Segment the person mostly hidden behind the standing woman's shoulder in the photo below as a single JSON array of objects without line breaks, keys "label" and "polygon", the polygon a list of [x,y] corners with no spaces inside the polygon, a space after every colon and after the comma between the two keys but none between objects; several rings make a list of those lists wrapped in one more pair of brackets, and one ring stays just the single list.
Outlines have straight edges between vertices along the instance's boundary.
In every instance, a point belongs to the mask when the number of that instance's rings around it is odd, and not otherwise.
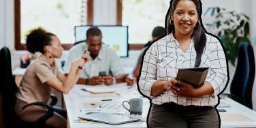
[{"label": "person mostly hidden behind the standing woman's shoulder", "polygon": [[140,53],[140,56],[138,58],[137,65],[136,65],[135,69],[133,69],[133,76],[135,78],[138,78],[138,76],[140,74],[140,67],[142,65],[142,57],[143,57],[143,54],[144,54],[146,48],[148,48],[148,46],[150,46],[150,44],[155,42],[155,40],[159,39],[159,37],[162,37],[163,35],[165,35],[165,28],[164,27],[157,26],[153,29],[153,31],[152,31],[152,40],[147,42],[144,45],[144,48],[142,48],[142,52]]}]

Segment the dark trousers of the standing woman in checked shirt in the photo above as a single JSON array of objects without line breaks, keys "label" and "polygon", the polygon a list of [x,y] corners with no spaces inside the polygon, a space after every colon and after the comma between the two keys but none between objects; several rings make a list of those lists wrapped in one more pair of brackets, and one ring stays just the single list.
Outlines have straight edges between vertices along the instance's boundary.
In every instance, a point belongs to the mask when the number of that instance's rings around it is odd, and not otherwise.
[{"label": "dark trousers of the standing woman in checked shirt", "polygon": [[148,127],[219,127],[218,112],[208,106],[180,106],[176,103],[153,104],[148,116]]}]

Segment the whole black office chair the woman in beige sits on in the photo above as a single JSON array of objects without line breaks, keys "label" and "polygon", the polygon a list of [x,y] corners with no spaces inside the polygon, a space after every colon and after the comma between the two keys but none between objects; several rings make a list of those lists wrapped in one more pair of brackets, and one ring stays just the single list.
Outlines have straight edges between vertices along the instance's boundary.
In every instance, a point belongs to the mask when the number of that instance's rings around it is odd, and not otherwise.
[{"label": "whole black office chair the woman in beige sits on", "polygon": [[[52,106],[47,103],[34,102],[29,103],[23,107],[26,109],[29,106],[37,105],[44,106],[48,109],[48,112],[42,117],[38,118],[35,123],[25,123],[18,119],[16,116],[14,106],[16,103],[16,92],[17,86],[14,81],[14,76],[12,75],[12,63],[11,63],[11,54],[10,50],[6,47],[3,47],[0,50],[0,101],[1,101],[1,112],[0,116],[2,118],[3,127],[48,127],[44,125],[44,122],[52,116],[54,109]],[[52,96],[51,96],[52,97]],[[57,103],[57,97],[52,100],[51,105]]]}]

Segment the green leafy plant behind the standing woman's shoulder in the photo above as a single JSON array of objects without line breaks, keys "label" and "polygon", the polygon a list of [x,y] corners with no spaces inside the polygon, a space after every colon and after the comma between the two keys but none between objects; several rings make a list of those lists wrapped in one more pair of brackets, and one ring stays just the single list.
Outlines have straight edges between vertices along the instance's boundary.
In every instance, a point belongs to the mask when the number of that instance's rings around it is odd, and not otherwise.
[{"label": "green leafy plant behind the standing woman's shoulder", "polygon": [[220,7],[209,7],[204,13],[206,30],[217,35],[232,65],[235,65],[238,46],[242,42],[250,43],[249,17]]}]

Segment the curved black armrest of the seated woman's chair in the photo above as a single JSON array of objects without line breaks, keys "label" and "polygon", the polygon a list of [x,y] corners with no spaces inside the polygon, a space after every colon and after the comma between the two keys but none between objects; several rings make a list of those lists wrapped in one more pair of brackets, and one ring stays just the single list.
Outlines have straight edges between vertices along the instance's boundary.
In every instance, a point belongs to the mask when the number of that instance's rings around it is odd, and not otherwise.
[{"label": "curved black armrest of the seated woman's chair", "polygon": [[43,102],[28,103],[27,105],[22,107],[22,110],[27,108],[28,106],[44,106],[48,109],[48,112],[46,112],[46,114],[44,114],[43,116],[38,118],[37,121],[35,121],[35,125],[33,126],[34,128],[42,126],[44,124],[44,122],[48,118],[50,118],[50,116],[53,115],[53,112],[54,112],[54,109],[52,108],[52,106],[48,105],[47,103],[43,103]]}]

